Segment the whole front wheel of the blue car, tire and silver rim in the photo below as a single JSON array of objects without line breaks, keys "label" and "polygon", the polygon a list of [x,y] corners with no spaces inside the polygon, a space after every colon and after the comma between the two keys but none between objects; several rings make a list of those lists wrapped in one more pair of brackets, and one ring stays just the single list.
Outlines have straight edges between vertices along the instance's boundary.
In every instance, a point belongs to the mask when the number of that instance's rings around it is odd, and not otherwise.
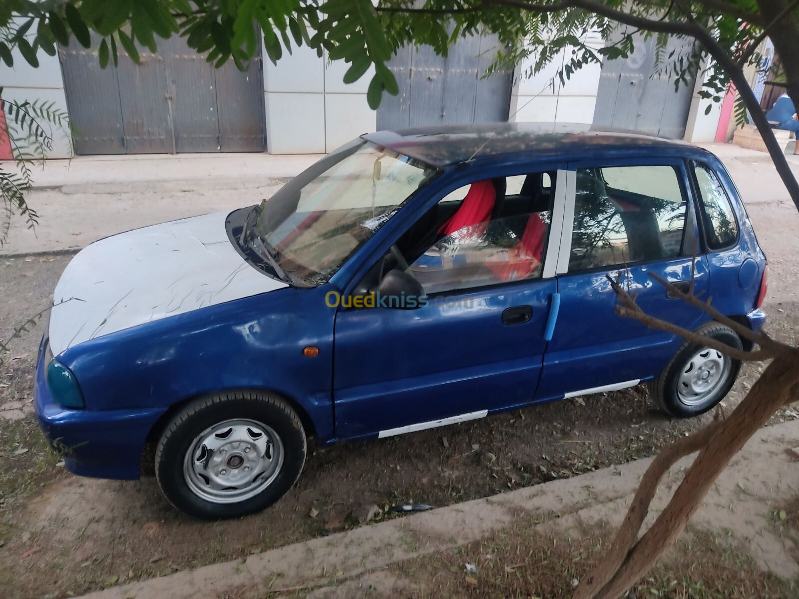
[{"label": "whole front wheel of the blue car, tire and silver rim", "polygon": [[239,391],[189,404],[158,442],[158,485],[178,510],[236,518],[264,510],[300,476],[306,438],[284,399]]}]

